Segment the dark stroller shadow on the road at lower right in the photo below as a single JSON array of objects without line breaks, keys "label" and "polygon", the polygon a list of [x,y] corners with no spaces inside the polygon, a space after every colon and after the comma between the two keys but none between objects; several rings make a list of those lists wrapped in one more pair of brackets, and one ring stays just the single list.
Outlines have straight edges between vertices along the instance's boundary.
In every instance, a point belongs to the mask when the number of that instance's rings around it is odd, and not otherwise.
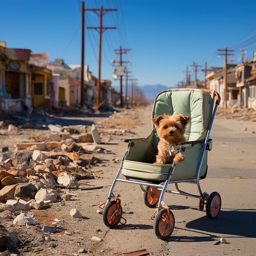
[{"label": "dark stroller shadow on the road at lower right", "polygon": [[186,227],[209,233],[256,238],[255,219],[256,209],[252,211],[248,211],[247,209],[220,211],[219,216],[214,220],[204,216],[190,221]]}]

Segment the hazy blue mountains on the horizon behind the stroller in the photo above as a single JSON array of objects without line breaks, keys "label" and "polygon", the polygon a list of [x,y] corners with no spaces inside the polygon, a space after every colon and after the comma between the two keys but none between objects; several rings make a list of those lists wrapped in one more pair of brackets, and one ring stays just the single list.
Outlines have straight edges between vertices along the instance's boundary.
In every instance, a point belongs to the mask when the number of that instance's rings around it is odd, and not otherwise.
[{"label": "hazy blue mountains on the horizon behind the stroller", "polygon": [[[119,85],[114,85],[112,86],[113,88],[115,88],[115,90],[117,92],[119,92]],[[164,90],[167,89],[173,89],[175,87],[171,86],[168,87],[166,85],[162,85],[162,84],[155,84],[155,85],[139,85],[139,89],[143,92],[144,96],[146,97],[146,99],[151,103],[155,101],[155,97],[157,96],[157,94],[159,94],[159,92],[162,92]],[[123,85],[123,93],[125,93],[125,86]]]}]

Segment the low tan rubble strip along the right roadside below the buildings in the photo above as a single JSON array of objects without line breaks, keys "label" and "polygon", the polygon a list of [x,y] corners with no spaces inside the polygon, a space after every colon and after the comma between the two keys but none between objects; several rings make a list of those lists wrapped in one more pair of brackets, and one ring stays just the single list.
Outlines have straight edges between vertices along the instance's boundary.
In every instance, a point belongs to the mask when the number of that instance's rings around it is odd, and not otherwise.
[{"label": "low tan rubble strip along the right roadside below the buildings", "polygon": [[243,121],[256,121],[256,111],[252,108],[240,108],[240,104],[237,103],[230,109],[218,108],[216,117],[222,119],[236,119]]}]

